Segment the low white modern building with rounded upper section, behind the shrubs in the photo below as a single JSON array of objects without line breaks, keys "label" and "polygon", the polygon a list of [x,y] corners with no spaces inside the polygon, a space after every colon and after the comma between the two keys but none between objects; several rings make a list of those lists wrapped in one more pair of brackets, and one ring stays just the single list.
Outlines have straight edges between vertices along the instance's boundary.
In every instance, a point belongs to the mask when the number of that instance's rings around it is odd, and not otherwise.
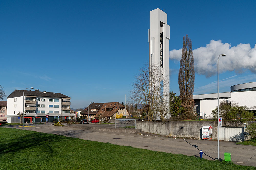
[{"label": "low white modern building with rounded upper section, behind the shrubs", "polygon": [[[201,116],[212,118],[212,110],[218,106],[218,94],[193,95],[196,112]],[[237,84],[230,87],[230,92],[219,93],[219,101],[230,100],[239,106],[247,106],[248,110],[256,112],[256,82]],[[205,114],[204,114],[205,113]],[[255,115],[256,116],[256,115]]]}]

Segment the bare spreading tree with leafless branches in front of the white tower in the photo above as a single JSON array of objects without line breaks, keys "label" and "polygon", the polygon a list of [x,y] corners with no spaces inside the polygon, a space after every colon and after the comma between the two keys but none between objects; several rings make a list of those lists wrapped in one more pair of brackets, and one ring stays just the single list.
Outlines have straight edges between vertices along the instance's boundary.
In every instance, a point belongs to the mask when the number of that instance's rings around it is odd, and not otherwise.
[{"label": "bare spreading tree with leafless branches in front of the white tower", "polygon": [[[161,68],[157,64],[145,64],[145,67],[140,69],[140,72],[134,77],[133,90],[131,94],[133,95],[133,100],[145,106],[144,109],[147,113],[148,121],[154,121],[156,118],[161,118],[169,114],[169,108],[164,107],[164,94],[163,88],[164,84],[161,82],[167,82],[169,79],[163,76]],[[162,114],[163,113],[163,114]],[[161,120],[164,120],[161,118]]]}]

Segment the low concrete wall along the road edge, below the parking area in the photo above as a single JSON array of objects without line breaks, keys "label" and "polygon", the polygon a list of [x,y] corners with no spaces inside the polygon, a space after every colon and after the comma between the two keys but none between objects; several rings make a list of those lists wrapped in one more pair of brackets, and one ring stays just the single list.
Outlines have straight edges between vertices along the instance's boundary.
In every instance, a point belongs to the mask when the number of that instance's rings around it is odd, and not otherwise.
[{"label": "low concrete wall along the road edge, below the parking area", "polygon": [[118,133],[129,133],[129,134],[141,134],[141,129],[132,129],[132,128],[106,128],[106,127],[81,127],[81,126],[68,126],[72,128],[79,129],[91,129],[91,130],[100,130],[105,132],[118,132]]}]

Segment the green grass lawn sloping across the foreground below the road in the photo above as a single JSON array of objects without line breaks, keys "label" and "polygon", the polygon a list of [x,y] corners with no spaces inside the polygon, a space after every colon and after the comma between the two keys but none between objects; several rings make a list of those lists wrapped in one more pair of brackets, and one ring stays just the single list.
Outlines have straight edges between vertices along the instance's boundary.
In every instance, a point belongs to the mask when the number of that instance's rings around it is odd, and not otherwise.
[{"label": "green grass lawn sloping across the foreground below the road", "polygon": [[20,129],[0,128],[0,143],[0,169],[256,169]]}]

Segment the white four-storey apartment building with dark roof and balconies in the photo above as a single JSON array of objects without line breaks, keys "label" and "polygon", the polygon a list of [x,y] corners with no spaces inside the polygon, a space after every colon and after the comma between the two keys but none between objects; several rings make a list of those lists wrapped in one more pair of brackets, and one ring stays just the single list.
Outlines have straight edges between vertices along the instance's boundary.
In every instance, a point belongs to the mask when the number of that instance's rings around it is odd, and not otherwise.
[{"label": "white four-storey apartment building with dark roof and balconies", "polygon": [[52,122],[54,117],[58,120],[58,116],[66,119],[71,116],[70,97],[61,93],[39,91],[39,89],[14,90],[7,97],[7,122],[20,123],[20,116],[17,114],[19,111],[25,111],[25,123],[46,122],[46,115],[49,122]]}]

